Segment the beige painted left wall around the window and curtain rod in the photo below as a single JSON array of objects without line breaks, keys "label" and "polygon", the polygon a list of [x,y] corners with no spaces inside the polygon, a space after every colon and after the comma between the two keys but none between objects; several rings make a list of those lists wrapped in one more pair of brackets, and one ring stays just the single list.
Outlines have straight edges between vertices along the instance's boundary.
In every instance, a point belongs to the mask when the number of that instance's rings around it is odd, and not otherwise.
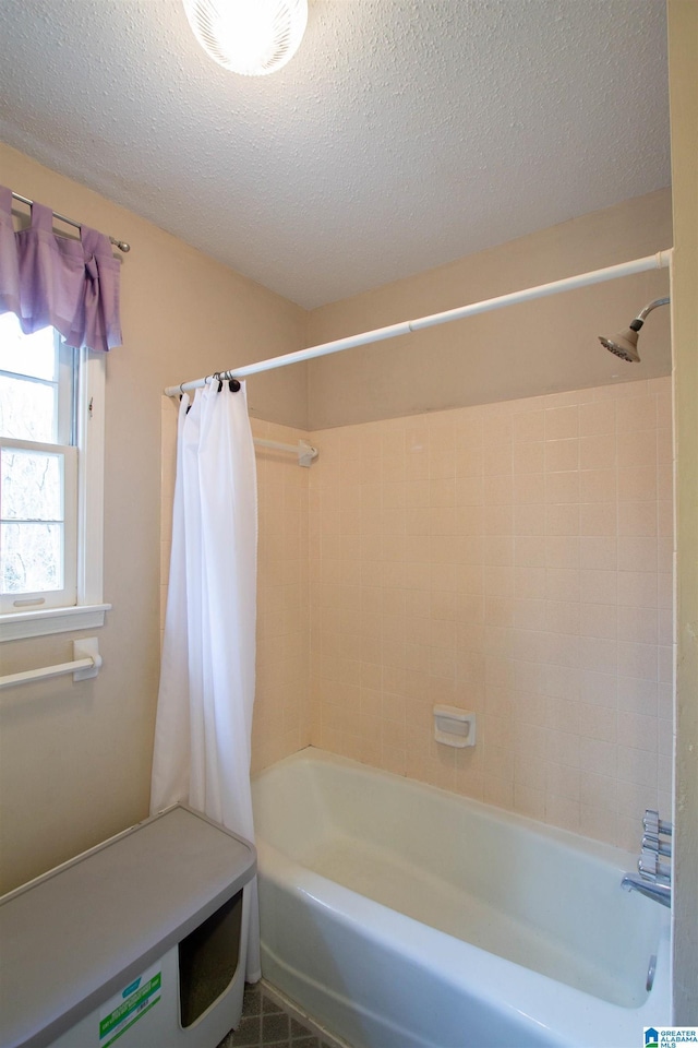
[{"label": "beige painted left wall around the window and curtain rod", "polygon": [[[0,703],[1,889],[147,813],[159,658],[160,403],[165,385],[305,344],[305,313],[22,154],[0,182],[131,243],[124,345],[107,361],[104,669],[25,684]],[[302,367],[249,384],[252,412],[304,424]],[[5,643],[3,672],[64,662],[74,633]]]}]

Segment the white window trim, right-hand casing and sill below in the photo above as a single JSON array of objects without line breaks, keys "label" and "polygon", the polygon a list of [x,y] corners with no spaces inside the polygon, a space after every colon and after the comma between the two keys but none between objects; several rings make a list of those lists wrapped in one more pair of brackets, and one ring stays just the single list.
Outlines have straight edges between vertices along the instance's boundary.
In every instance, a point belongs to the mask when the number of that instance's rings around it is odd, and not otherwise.
[{"label": "white window trim, right-hand casing and sill below", "polygon": [[0,642],[104,626],[104,353],[77,352],[77,600],[0,615]]}]

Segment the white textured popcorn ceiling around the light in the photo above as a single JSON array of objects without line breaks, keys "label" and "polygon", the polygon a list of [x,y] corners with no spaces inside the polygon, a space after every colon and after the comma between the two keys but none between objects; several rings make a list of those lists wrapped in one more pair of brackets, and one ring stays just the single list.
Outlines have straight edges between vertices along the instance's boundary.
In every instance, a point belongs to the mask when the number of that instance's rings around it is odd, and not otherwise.
[{"label": "white textured popcorn ceiling around the light", "polygon": [[264,78],[180,0],[0,0],[0,39],[3,141],[306,308],[670,181],[664,0],[310,0]]}]

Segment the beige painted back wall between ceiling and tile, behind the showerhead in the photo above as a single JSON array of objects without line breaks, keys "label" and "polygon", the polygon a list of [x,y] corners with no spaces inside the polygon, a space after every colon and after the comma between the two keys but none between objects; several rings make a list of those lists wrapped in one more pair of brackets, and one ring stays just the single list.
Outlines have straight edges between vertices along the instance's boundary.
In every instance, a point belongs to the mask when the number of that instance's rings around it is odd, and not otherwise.
[{"label": "beige painted back wall between ceiling and tile, behind the showerhead", "polygon": [[[315,309],[309,344],[643,258],[671,245],[671,193],[661,190]],[[667,288],[666,271],[650,272],[312,360],[309,426],[324,429],[669,374],[669,310],[648,321],[640,365],[618,360],[597,342],[597,335],[627,326]]]}]

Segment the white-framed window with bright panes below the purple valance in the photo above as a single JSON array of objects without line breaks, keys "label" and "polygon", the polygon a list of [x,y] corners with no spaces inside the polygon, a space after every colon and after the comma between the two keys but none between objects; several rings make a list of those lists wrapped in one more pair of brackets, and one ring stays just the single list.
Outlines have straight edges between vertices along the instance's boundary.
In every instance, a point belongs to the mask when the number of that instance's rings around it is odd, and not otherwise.
[{"label": "white-framed window with bright panes below the purple valance", "polygon": [[0,635],[104,623],[104,354],[0,317]]}]

